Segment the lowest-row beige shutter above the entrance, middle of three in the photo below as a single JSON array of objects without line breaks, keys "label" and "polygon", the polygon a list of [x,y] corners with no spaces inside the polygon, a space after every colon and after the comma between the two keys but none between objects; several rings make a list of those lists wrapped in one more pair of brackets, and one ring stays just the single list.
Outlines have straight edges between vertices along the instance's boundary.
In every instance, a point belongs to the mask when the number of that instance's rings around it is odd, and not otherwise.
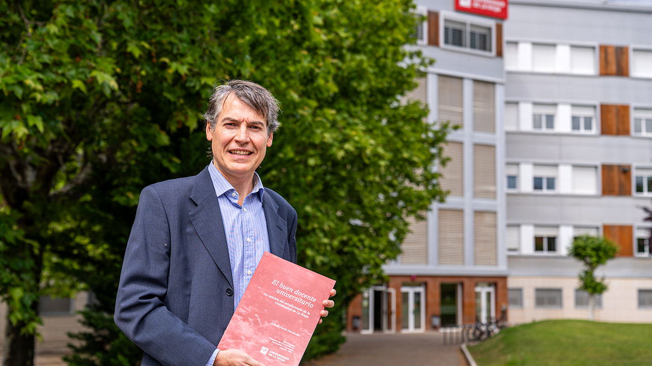
[{"label": "lowest-row beige shutter above the entrance, middle of three", "polygon": [[464,264],[464,212],[439,210],[437,232],[438,262],[462,266]]}]

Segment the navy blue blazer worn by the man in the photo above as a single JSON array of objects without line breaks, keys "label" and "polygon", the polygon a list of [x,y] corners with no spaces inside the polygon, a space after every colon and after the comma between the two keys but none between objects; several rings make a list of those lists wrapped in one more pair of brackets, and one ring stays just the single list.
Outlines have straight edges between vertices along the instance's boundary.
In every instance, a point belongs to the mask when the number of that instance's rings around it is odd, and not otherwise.
[{"label": "navy blue blazer worn by the man", "polygon": [[[297,262],[297,212],[265,188],[271,253]],[[115,302],[115,324],[141,365],[203,366],[233,315],[233,277],[208,169],[140,194]]]}]

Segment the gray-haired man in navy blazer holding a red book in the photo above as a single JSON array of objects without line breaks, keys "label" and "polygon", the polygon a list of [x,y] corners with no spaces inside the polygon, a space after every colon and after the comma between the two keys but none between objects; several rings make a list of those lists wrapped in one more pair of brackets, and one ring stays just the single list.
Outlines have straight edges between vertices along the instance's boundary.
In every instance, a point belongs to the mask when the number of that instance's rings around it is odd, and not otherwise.
[{"label": "gray-haired man in navy blazer holding a red book", "polygon": [[278,102],[256,83],[216,87],[205,113],[213,162],[141,192],[115,303],[115,324],[145,352],[141,365],[264,366],[216,345],[263,252],[297,261],[297,212],[256,174],[277,117]]}]

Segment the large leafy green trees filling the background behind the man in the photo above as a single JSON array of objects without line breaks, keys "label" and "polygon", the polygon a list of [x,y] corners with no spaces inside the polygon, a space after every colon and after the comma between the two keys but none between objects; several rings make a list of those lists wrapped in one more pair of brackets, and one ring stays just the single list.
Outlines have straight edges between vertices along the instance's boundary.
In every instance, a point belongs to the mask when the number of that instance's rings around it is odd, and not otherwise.
[{"label": "large leafy green trees filling the background behind the man", "polygon": [[[299,262],[338,281],[306,358],[344,340],[343,312],[400,251],[406,218],[444,192],[447,126],[402,102],[430,64],[409,0],[0,3],[0,293],[4,365],[33,363],[38,298],[92,290],[72,364],[137,364],[111,322],[146,184],[196,174],[211,88],[269,88],[283,126],[259,168],[299,214]],[[406,46],[408,45],[408,46]]]}]

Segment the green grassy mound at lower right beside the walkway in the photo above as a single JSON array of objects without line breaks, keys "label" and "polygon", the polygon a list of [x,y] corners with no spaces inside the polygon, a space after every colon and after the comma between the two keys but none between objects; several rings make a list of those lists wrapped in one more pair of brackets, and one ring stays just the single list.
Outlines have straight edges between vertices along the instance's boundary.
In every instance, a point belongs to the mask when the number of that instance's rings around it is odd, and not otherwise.
[{"label": "green grassy mound at lower right beside the walkway", "polygon": [[479,366],[652,365],[652,324],[545,320],[469,346]]}]

